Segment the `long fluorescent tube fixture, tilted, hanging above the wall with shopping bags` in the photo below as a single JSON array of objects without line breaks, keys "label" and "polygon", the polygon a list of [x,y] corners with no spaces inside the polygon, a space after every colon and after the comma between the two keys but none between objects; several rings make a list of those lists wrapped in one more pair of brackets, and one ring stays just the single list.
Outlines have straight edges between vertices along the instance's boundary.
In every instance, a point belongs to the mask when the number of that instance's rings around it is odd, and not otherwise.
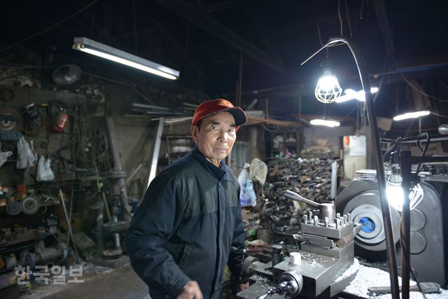
[{"label": "long fluorescent tube fixture, tilted, hanging above the wall with shopping bags", "polygon": [[106,46],[103,43],[92,41],[85,37],[76,37],[73,41],[73,49],[96,55],[106,60],[112,60],[120,64],[125,64],[128,67],[134,67],[141,71],[147,71],[148,73],[158,75],[167,79],[176,80],[179,78],[179,71],[170,69],[162,64],[158,64],[144,58],[126,53],[122,50]]}]

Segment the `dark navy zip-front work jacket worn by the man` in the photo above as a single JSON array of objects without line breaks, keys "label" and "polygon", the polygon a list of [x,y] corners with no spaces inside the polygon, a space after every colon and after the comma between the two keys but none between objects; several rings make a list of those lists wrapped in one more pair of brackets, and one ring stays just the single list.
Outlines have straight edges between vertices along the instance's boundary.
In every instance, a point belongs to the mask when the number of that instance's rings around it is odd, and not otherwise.
[{"label": "dark navy zip-front work jacket worn by the man", "polygon": [[134,271],[176,298],[190,280],[217,298],[225,265],[239,277],[244,229],[239,183],[224,162],[208,162],[195,148],[151,182],[126,236]]}]

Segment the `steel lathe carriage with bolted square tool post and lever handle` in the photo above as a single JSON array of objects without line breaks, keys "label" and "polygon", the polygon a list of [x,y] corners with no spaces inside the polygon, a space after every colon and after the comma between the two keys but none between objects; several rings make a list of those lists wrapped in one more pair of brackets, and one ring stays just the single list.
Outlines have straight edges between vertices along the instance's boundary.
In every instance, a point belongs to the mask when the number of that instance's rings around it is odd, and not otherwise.
[{"label": "steel lathe carriage with bolted square tool post and lever handle", "polygon": [[330,298],[340,293],[356,276],[344,275],[353,263],[353,239],[361,225],[351,221],[350,214],[336,213],[335,204],[317,204],[287,190],[285,196],[318,207],[302,218],[302,233],[295,235],[300,250],[283,257],[281,246],[272,246],[272,261],[260,263],[253,257],[244,260],[244,273],[250,286],[237,298],[264,299],[278,294],[323,296]]}]

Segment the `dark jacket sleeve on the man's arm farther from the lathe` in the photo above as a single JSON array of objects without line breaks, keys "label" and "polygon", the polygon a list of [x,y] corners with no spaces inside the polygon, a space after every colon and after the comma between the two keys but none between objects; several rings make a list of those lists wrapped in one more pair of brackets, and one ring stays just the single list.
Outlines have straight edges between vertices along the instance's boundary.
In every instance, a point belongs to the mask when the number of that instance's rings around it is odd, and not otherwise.
[{"label": "dark jacket sleeve on the man's arm farther from the lathe", "polygon": [[134,271],[149,287],[170,298],[176,298],[191,280],[163,246],[181,222],[183,205],[174,179],[167,175],[156,177],[126,235],[126,249]]}]

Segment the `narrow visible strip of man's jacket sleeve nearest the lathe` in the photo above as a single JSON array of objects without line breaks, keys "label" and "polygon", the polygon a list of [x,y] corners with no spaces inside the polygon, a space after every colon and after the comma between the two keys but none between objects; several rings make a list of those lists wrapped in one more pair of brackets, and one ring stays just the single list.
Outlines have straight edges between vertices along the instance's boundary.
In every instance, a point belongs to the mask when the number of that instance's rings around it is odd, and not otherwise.
[{"label": "narrow visible strip of man's jacket sleeve nearest the lathe", "polygon": [[[237,194],[239,195],[239,188]],[[235,230],[233,232],[232,247],[236,247],[237,249],[240,250],[244,249],[245,248],[244,239],[245,239],[245,232],[241,216],[241,202],[239,202],[239,196],[238,196],[238,205],[235,215]],[[237,281],[239,283],[246,283],[248,279],[247,278],[243,279],[243,277],[240,277],[242,258],[244,258],[243,253],[241,252],[237,253],[231,250],[229,254],[228,266],[230,268],[230,271],[237,278]]]}]

